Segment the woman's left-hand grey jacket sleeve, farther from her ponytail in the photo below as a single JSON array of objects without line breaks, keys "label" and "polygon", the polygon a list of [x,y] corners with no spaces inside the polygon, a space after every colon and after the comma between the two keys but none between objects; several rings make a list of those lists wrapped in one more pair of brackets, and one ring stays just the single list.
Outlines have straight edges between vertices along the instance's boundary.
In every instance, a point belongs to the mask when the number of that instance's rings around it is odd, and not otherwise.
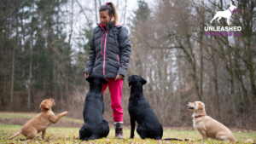
[{"label": "woman's left-hand grey jacket sleeve, farther from her ponytail", "polygon": [[96,49],[94,45],[95,40],[95,30],[92,32],[92,35],[90,37],[90,57],[87,60],[87,64],[84,68],[84,73],[90,74],[92,72],[95,60],[96,60]]}]

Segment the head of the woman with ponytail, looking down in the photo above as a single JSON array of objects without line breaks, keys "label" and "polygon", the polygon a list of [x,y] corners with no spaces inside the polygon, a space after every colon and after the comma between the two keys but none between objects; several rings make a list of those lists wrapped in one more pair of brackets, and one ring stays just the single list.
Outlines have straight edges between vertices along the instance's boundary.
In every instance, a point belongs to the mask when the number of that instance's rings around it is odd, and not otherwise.
[{"label": "head of the woman with ponytail, looking down", "polygon": [[106,26],[107,22],[114,19],[114,26],[117,26],[118,23],[118,14],[116,13],[116,9],[113,3],[108,2],[101,6],[100,10],[100,19],[103,26]]}]

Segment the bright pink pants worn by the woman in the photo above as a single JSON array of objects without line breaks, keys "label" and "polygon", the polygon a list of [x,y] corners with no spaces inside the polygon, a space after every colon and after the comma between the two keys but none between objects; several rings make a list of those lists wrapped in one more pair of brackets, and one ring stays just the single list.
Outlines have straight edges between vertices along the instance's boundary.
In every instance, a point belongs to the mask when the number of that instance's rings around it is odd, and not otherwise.
[{"label": "bright pink pants worn by the woman", "polygon": [[113,110],[113,121],[123,122],[123,109],[121,106],[122,102],[122,86],[123,79],[114,80],[115,78],[107,78],[108,84],[103,84],[102,95],[104,95],[105,89],[109,89],[111,95],[111,107]]}]

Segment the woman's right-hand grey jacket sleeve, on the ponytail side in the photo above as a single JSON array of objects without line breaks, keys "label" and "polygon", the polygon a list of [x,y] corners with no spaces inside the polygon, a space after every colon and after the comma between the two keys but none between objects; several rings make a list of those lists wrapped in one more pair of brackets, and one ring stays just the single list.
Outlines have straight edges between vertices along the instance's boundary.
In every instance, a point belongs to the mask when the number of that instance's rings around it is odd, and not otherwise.
[{"label": "woman's right-hand grey jacket sleeve, on the ponytail side", "polygon": [[131,55],[131,42],[128,37],[128,31],[126,30],[125,26],[122,26],[121,30],[119,31],[119,47],[121,51],[121,58],[118,74],[121,74],[125,77],[125,73],[127,72]]}]

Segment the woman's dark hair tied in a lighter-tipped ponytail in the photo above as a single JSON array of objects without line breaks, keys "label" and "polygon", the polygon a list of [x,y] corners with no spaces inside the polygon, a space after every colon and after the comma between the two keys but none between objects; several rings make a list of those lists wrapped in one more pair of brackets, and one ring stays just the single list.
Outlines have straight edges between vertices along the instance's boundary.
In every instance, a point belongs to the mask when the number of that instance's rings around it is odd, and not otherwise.
[{"label": "woman's dark hair tied in a lighter-tipped ponytail", "polygon": [[99,10],[99,12],[102,12],[102,11],[105,11],[105,10],[108,10],[108,15],[109,16],[111,14],[113,14],[114,26],[117,26],[119,17],[118,17],[118,14],[116,13],[116,9],[115,9],[113,3],[112,2],[108,2],[108,3],[104,4],[104,5],[102,5],[100,10]]}]

